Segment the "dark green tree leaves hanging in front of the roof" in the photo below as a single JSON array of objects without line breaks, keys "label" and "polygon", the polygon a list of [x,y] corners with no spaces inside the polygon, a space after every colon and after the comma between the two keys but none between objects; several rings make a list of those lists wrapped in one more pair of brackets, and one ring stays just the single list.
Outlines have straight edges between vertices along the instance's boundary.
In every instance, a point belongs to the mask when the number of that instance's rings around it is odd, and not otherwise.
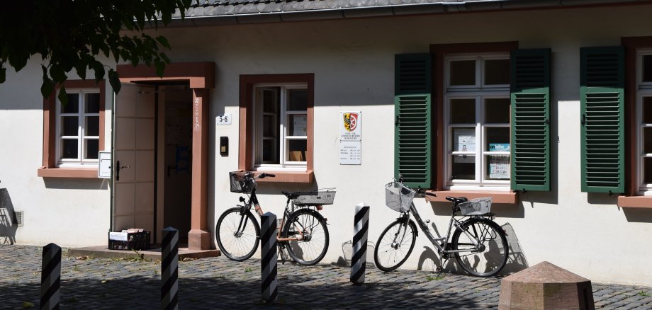
[{"label": "dark green tree leaves hanging in front of the roof", "polygon": [[[6,81],[4,64],[20,71],[35,55],[43,60],[44,97],[64,84],[73,69],[81,79],[88,69],[96,81],[104,79],[112,64],[101,63],[100,55],[116,63],[153,66],[162,76],[170,62],[162,50],[171,45],[163,36],[142,31],[157,28],[159,21],[169,24],[176,10],[183,18],[190,6],[191,0],[10,1],[0,10],[0,83]],[[108,69],[108,80],[120,91],[114,69]],[[59,96],[65,95],[62,90]]]}]

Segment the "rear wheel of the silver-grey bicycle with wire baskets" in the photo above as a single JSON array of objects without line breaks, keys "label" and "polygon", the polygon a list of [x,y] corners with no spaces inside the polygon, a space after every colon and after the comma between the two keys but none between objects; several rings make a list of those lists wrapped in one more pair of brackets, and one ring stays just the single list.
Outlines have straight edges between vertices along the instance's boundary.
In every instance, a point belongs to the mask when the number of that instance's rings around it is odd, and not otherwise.
[{"label": "rear wheel of the silver-grey bicycle with wire baskets", "polygon": [[[473,240],[478,243],[474,245]],[[460,267],[471,275],[490,277],[505,267],[510,248],[505,231],[490,219],[473,217],[456,229],[451,248]]]}]

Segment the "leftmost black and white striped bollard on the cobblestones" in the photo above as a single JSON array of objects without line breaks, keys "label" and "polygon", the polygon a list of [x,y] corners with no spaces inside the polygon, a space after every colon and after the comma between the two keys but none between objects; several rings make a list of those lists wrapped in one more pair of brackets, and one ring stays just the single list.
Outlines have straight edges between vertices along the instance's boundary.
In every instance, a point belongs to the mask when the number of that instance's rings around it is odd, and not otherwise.
[{"label": "leftmost black and white striped bollard on the cobblestones", "polygon": [[59,309],[61,286],[61,247],[50,243],[43,247],[40,309]]}]

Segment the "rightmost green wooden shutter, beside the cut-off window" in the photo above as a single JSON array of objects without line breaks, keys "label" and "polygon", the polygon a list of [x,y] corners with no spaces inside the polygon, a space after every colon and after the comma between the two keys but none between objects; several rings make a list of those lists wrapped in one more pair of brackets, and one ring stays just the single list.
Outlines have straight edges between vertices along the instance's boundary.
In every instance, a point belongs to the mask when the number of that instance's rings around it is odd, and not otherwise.
[{"label": "rightmost green wooden shutter, beside the cut-off window", "polygon": [[624,192],[624,49],[580,50],[582,191]]}]

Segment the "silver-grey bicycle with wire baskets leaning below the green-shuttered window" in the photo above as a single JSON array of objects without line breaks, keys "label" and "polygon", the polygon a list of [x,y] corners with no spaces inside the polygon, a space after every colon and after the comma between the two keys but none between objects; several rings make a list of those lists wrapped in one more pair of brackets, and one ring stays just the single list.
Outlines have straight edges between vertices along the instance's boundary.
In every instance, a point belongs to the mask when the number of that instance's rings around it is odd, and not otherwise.
[{"label": "silver-grey bicycle with wire baskets leaning below the green-shuttered window", "polygon": [[[424,193],[421,188],[417,191],[408,188],[400,176],[399,180],[393,180],[385,188],[386,205],[400,212],[400,217],[387,226],[376,243],[373,260],[380,270],[395,270],[412,253],[417,227],[410,214],[444,259],[437,268],[438,272],[442,271],[451,256],[456,258],[464,271],[478,277],[496,275],[505,267],[509,246],[505,231],[491,219],[495,216],[490,213],[491,198],[468,200],[466,197],[446,197],[453,203],[449,228],[446,236],[435,238],[412,202],[415,195],[423,197],[434,194]],[[461,214],[459,219],[458,212]],[[453,226],[455,232],[451,235]]]}]

